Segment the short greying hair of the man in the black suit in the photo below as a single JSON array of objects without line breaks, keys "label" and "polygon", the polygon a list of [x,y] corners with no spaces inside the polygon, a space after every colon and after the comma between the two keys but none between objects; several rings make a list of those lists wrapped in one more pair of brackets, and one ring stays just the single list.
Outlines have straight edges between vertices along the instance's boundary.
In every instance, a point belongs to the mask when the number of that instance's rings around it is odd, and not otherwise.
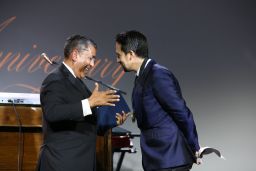
[{"label": "short greying hair of the man in the black suit", "polygon": [[81,35],[73,35],[67,38],[64,45],[64,57],[68,58],[73,49],[77,48],[78,50],[82,48],[88,48],[88,46],[93,46],[97,49],[97,44],[90,38],[81,36]]}]

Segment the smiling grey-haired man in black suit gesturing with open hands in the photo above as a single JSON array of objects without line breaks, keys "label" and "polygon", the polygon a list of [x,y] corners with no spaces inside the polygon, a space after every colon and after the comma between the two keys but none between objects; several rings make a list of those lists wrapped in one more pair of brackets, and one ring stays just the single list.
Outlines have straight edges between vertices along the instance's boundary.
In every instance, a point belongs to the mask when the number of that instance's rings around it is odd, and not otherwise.
[{"label": "smiling grey-haired man in black suit gesturing with open hands", "polygon": [[[96,84],[91,93],[81,81],[94,66],[96,50],[96,44],[89,38],[80,35],[68,38],[64,62],[43,81],[40,98],[44,143],[38,170],[96,170],[94,110],[96,106],[114,106],[119,101],[115,91],[99,91]],[[122,117],[117,116],[118,122]]]}]

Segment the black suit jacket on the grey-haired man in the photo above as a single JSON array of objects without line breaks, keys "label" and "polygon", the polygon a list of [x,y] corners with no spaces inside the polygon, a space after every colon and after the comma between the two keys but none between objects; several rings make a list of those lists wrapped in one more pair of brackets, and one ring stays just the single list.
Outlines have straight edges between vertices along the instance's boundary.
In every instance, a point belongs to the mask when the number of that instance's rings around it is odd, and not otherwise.
[{"label": "black suit jacket on the grey-haired man", "polygon": [[81,100],[91,92],[62,64],[43,81],[44,144],[42,171],[93,171],[96,163],[96,115],[83,116]]}]

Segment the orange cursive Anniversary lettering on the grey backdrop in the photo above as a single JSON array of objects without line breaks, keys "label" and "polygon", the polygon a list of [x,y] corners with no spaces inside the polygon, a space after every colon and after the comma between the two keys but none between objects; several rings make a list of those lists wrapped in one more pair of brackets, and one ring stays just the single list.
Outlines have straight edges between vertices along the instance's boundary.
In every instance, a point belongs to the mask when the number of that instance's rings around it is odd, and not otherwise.
[{"label": "orange cursive Anniversary lettering on the grey backdrop", "polygon": [[[10,17],[4,22],[0,23],[0,32],[7,28],[13,21],[16,20],[16,16]],[[37,49],[38,45],[32,45],[33,50]],[[36,55],[35,55],[36,54]],[[61,64],[63,58],[59,55],[52,56],[50,58],[52,61],[55,61]],[[46,62],[41,55],[37,52],[14,52],[14,51],[0,51],[0,70],[7,70],[8,72],[24,72],[27,73],[36,73],[37,71],[43,71],[43,73],[48,74],[52,72],[57,65],[50,65]],[[108,58],[101,58],[96,60],[95,65],[91,68],[88,76],[99,77],[101,79],[105,78],[112,82],[112,85],[115,86],[121,80],[124,75],[122,67]],[[23,87],[31,90],[32,92],[39,92],[38,87],[31,86],[29,84],[12,84],[7,86],[9,87]]]}]

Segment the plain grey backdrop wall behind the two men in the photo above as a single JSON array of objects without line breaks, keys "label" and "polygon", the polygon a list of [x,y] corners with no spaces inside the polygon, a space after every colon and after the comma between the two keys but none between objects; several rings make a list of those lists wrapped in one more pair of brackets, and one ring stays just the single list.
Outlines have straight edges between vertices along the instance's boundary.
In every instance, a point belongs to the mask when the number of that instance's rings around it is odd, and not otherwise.
[{"label": "plain grey backdrop wall behind the two men", "polygon": [[[150,56],[178,77],[201,146],[217,147],[227,158],[210,155],[194,170],[254,171],[255,9],[256,2],[249,0],[2,0],[0,91],[36,92],[47,73],[45,63],[31,66],[32,62],[42,52],[63,56],[64,41],[71,34],[93,38],[102,64],[113,62],[115,68],[114,36],[137,29],[148,37]],[[6,21],[10,23],[5,25]],[[26,55],[31,61],[19,65]],[[102,78],[101,70],[94,76],[113,83],[111,73]],[[133,79],[129,73],[115,85],[128,92],[130,106]],[[139,132],[130,121],[123,127]],[[126,155],[122,170],[142,169],[139,139],[134,143],[138,153]]]}]

